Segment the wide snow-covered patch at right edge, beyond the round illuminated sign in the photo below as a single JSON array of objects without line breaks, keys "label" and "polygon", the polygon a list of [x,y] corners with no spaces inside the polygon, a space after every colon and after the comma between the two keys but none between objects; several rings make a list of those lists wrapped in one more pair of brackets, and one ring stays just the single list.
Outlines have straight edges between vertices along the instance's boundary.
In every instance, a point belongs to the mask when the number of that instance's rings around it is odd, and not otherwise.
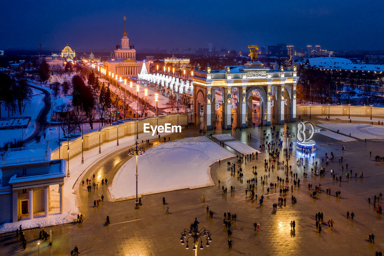
[{"label": "wide snow-covered patch at right edge, beyond the round illuminated sign", "polygon": [[[326,128],[331,131],[339,130],[339,133],[346,135],[351,134],[352,137],[359,139],[381,139],[384,140],[384,136],[378,135],[378,133],[384,134],[384,126],[382,125],[369,125],[366,123],[323,123],[317,126]],[[371,133],[369,130],[375,129],[375,133]],[[382,130],[379,130],[382,129]]]}]

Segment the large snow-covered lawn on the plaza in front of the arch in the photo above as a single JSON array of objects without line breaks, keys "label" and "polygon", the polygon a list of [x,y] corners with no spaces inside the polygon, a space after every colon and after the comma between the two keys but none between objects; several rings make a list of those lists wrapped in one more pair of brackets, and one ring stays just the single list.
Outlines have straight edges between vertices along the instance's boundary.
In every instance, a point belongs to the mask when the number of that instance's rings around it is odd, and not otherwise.
[{"label": "large snow-covered lawn on the plaza in front of the arch", "polygon": [[[170,141],[138,158],[139,194],[214,185],[210,165],[234,155],[205,136]],[[109,186],[112,200],[136,197],[136,158],[128,160]]]}]

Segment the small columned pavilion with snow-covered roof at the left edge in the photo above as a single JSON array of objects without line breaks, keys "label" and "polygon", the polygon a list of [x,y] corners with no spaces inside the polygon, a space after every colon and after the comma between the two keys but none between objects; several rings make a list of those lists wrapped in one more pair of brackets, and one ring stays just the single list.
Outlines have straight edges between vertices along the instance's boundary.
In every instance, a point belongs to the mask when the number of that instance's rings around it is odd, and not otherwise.
[{"label": "small columned pavilion with snow-covered roof at the left edge", "polygon": [[60,186],[60,214],[63,213],[63,185],[66,160],[51,160],[49,144],[8,148],[0,161],[0,223],[33,219],[35,213],[49,215],[50,186]]}]

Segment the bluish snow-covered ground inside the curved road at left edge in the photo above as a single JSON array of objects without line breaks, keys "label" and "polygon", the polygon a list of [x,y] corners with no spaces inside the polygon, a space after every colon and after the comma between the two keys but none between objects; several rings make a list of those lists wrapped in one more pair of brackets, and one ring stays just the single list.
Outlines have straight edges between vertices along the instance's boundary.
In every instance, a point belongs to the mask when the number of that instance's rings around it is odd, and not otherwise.
[{"label": "bluish snow-covered ground inside the curved road at left edge", "polygon": [[[20,115],[18,110],[16,114],[10,115],[10,118],[16,118],[18,116],[31,116],[31,121],[26,129],[13,129],[13,130],[0,130],[0,146],[3,146],[5,142],[9,140],[22,140],[31,135],[35,131],[35,120],[40,113],[40,110],[44,107],[44,93],[42,91],[32,89],[31,102],[25,106],[24,112]],[[8,117],[8,109],[5,110],[4,106],[1,108],[1,116]]]}]

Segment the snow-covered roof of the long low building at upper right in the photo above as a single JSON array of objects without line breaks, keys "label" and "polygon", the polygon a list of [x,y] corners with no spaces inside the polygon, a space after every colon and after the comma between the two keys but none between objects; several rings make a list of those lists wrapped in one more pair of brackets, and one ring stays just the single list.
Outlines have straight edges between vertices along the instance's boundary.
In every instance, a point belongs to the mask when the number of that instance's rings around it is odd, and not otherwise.
[{"label": "snow-covered roof of the long low building at upper right", "polygon": [[314,68],[343,69],[343,70],[363,70],[363,71],[383,71],[384,65],[374,64],[355,64],[346,58],[336,57],[317,57],[308,58],[307,65]]}]

